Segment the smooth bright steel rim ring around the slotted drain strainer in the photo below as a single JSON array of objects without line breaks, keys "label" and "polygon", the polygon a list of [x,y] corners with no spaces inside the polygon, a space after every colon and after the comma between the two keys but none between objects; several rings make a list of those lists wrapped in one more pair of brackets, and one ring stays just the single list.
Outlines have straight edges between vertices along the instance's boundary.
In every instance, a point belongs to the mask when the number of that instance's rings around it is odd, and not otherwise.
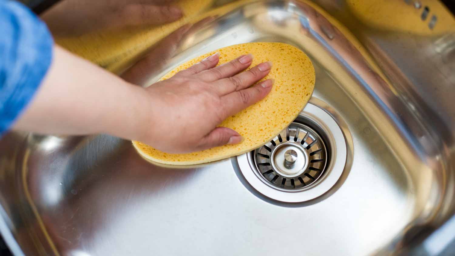
[{"label": "smooth bright steel rim ring around the slotted drain strainer", "polygon": [[326,147],[328,147],[328,151],[331,154],[331,161],[327,163],[326,170],[317,181],[300,190],[284,190],[277,186],[272,187],[258,178],[260,174],[256,171],[254,157],[251,152],[237,157],[239,171],[245,180],[256,191],[273,200],[298,203],[315,199],[329,191],[344,171],[347,161],[346,141],[341,128],[334,118],[312,103],[308,103],[305,106],[297,119],[299,118],[311,120],[314,125],[319,126],[318,130],[324,131],[326,140],[329,141]]}]

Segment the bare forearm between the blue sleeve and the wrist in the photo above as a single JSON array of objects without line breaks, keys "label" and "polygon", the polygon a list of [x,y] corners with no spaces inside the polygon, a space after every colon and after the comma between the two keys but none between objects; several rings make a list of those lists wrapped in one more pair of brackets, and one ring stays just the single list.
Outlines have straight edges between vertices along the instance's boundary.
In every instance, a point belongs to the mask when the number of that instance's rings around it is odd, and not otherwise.
[{"label": "bare forearm between the blue sleeve and the wrist", "polygon": [[13,129],[136,139],[139,121],[147,120],[144,93],[142,87],[54,46],[51,67]]}]

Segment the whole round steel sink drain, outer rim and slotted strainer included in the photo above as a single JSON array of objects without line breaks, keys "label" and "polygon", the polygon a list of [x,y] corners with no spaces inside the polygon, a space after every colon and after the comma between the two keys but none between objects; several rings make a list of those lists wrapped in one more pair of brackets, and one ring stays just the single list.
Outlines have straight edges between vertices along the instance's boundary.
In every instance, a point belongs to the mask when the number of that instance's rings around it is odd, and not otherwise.
[{"label": "whole round steel sink drain, outer rim and slotted strainer included", "polygon": [[237,163],[249,185],[264,196],[282,202],[304,202],[335,185],[343,173],[346,156],[346,141],[337,121],[308,103],[278,136],[238,156]]}]

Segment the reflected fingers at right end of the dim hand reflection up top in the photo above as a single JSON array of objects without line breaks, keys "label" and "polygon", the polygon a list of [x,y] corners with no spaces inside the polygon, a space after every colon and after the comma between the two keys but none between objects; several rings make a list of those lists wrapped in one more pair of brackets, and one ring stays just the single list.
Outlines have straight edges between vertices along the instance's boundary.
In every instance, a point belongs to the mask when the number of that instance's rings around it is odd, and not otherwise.
[{"label": "reflected fingers at right end of the dim hand reflection up top", "polygon": [[180,8],[170,5],[131,4],[121,12],[122,21],[128,25],[160,25],[178,20],[183,13]]}]

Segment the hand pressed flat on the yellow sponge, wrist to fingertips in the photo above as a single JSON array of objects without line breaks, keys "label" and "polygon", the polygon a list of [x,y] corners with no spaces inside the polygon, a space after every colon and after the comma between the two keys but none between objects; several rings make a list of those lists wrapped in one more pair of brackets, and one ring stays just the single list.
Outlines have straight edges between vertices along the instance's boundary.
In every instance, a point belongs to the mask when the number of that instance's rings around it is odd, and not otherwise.
[{"label": "hand pressed flat on the yellow sponge, wrist to fingertips", "polygon": [[170,153],[241,142],[243,138],[236,131],[217,125],[270,92],[271,79],[253,84],[268,75],[271,63],[241,72],[252,60],[252,55],[242,55],[215,67],[219,61],[219,54],[215,54],[145,88],[148,105],[143,108],[151,114],[139,127],[137,139]]}]

